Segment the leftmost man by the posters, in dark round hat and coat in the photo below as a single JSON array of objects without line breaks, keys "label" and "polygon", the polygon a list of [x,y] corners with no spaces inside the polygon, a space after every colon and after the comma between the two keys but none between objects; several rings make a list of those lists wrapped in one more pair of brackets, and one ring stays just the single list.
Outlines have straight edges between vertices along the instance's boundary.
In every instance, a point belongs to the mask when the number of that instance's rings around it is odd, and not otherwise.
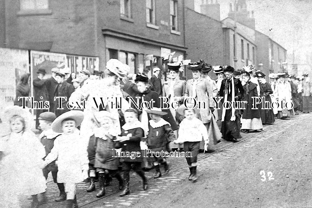
[{"label": "leftmost man by the posters, in dark round hat and coat", "polygon": [[[43,79],[46,75],[45,69],[38,69],[37,71],[37,78],[35,78],[32,83],[34,86],[34,100],[37,102],[49,100],[48,90],[46,88],[46,79]],[[43,108],[43,106],[34,106],[35,108]],[[40,113],[48,111],[48,109],[36,109],[36,129],[39,129],[39,120],[38,117]]]}]

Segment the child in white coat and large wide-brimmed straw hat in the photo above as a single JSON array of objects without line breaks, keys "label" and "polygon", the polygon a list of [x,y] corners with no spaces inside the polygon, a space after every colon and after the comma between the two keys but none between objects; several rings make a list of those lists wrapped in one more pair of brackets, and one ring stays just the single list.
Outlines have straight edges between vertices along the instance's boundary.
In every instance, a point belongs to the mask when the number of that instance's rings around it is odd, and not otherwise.
[{"label": "child in white coat and large wide-brimmed straw hat", "polygon": [[52,130],[63,133],[54,140],[54,147],[46,156],[44,165],[56,158],[58,173],[57,182],[64,183],[66,208],[78,208],[76,200],[76,183],[88,177],[88,152],[83,139],[76,129],[83,120],[82,111],[68,111],[57,117],[52,123]]}]

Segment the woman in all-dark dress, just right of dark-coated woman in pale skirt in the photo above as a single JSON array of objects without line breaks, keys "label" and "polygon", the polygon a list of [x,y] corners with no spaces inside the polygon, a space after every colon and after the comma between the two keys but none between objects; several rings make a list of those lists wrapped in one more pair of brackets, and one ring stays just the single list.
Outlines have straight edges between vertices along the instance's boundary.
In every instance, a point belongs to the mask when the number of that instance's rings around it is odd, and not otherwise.
[{"label": "woman in all-dark dress, just right of dark-coated woman in pale skirt", "polygon": [[[262,72],[259,72],[259,71],[256,72],[256,78],[258,78],[259,85],[260,85],[260,98],[261,98],[260,116],[261,116],[262,124],[273,124],[275,122],[275,117],[274,117],[273,109],[271,108],[272,101],[270,97],[273,91],[269,83],[266,82],[265,76],[266,75]],[[265,99],[265,101],[270,102],[269,106],[265,106],[265,108],[269,107],[270,109],[262,109],[263,99]]]}]

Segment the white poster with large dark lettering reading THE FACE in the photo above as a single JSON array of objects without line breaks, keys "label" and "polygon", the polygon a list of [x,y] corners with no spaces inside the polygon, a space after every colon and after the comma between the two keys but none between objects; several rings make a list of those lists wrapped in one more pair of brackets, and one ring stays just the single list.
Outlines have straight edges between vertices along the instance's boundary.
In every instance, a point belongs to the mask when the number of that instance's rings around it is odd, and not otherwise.
[{"label": "white poster with large dark lettering reading THE FACE", "polygon": [[93,73],[99,70],[99,57],[66,55],[66,66],[71,72],[78,74],[81,70],[88,70]]}]

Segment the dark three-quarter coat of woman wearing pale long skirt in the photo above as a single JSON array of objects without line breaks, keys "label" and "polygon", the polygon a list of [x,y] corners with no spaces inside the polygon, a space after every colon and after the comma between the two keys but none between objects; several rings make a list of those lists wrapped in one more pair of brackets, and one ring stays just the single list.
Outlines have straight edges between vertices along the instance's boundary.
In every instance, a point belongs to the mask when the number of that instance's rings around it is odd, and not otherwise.
[{"label": "dark three-quarter coat of woman wearing pale long skirt", "polygon": [[[247,85],[248,85],[248,94],[247,94]],[[258,108],[258,104],[255,105],[256,109],[252,109],[253,107],[253,99],[252,97],[258,97],[258,91],[257,91],[257,84],[252,83],[252,82],[247,82],[244,86],[243,86],[244,90],[245,90],[245,97],[244,97],[244,101],[247,101],[247,103],[244,103],[244,113],[242,118],[260,118],[260,111]]]}]

